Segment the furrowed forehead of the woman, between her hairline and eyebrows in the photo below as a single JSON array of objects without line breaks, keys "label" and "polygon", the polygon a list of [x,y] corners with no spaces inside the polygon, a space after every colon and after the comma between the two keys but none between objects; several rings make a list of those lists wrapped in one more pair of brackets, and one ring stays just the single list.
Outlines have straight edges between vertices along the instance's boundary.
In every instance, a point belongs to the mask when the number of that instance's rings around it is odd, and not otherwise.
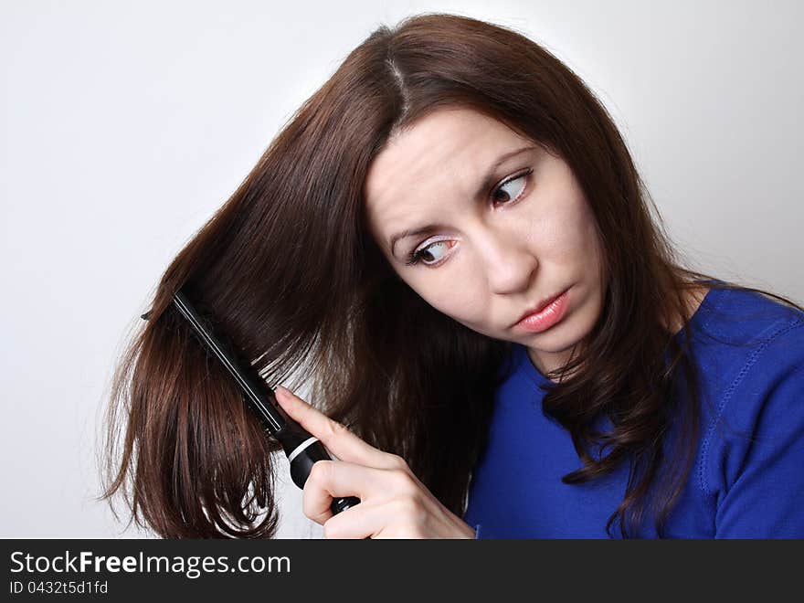
[{"label": "furrowed forehead of the woman, between her hairline and eyebrows", "polygon": [[381,246],[399,227],[437,219],[475,188],[501,153],[527,143],[479,111],[441,108],[389,139],[369,167],[366,217]]}]

